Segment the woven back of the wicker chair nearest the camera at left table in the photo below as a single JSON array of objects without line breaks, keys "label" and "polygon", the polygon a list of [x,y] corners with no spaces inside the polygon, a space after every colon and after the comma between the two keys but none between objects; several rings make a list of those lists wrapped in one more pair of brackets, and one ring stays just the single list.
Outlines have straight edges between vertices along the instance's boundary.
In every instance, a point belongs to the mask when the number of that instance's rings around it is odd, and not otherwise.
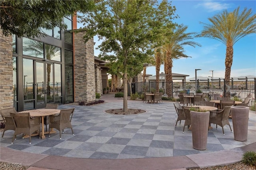
[{"label": "woven back of the wicker chair nearest the camera at left table", "polygon": [[28,128],[30,127],[30,113],[10,113],[12,120],[16,128]]}]

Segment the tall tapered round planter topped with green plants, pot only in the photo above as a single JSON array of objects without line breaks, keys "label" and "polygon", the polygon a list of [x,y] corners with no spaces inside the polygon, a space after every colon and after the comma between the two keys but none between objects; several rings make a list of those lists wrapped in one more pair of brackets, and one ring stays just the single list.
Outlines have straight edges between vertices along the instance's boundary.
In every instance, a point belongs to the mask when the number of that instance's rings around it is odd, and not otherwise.
[{"label": "tall tapered round planter topped with green plants, pot only", "polygon": [[205,150],[207,145],[210,111],[190,111],[193,148]]}]

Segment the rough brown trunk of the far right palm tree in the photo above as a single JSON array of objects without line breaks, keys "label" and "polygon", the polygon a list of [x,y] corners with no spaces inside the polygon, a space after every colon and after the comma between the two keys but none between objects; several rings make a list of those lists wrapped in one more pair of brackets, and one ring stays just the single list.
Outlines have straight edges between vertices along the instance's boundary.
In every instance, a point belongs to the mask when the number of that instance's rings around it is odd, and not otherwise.
[{"label": "rough brown trunk of the far right palm tree", "polygon": [[226,60],[225,60],[225,82],[229,85],[230,82],[230,73],[231,73],[231,66],[233,62],[233,53],[234,49],[233,46],[227,46],[226,48]]}]

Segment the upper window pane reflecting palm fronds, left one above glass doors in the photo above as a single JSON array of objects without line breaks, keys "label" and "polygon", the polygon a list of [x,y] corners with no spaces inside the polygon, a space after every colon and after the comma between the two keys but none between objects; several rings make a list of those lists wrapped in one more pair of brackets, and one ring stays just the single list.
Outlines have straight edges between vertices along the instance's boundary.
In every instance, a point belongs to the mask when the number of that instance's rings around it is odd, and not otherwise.
[{"label": "upper window pane reflecting palm fronds, left one above glass doors", "polygon": [[44,58],[44,43],[23,38],[23,55]]}]

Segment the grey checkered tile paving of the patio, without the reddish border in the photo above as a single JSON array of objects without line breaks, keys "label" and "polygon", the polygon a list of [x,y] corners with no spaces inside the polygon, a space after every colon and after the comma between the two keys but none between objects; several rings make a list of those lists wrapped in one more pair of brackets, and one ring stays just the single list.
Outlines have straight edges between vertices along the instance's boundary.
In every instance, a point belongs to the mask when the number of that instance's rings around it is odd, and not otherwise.
[{"label": "grey checkered tile paving of the patio, without the reddish border", "polygon": [[[60,105],[59,109],[75,107],[71,129],[65,129],[60,140],[59,131],[46,135],[46,139],[32,137],[31,145],[28,138],[17,140],[11,144],[13,131],[6,131],[0,145],[25,152],[50,154],[78,158],[150,158],[181,156],[219,150],[229,150],[248,145],[256,141],[256,114],[250,111],[248,141],[234,140],[229,126],[213,129],[208,132],[206,150],[196,150],[192,147],[192,132],[185,128],[184,121],[177,123],[177,115],[173,102],[161,104],[146,104],[142,101],[128,101],[128,108],[146,110],[146,113],[136,115],[112,115],[104,110],[122,108],[123,101],[106,102],[95,106]],[[230,119],[232,127],[232,119]],[[233,127],[232,127],[233,129]],[[1,134],[2,135],[2,134]]]}]

